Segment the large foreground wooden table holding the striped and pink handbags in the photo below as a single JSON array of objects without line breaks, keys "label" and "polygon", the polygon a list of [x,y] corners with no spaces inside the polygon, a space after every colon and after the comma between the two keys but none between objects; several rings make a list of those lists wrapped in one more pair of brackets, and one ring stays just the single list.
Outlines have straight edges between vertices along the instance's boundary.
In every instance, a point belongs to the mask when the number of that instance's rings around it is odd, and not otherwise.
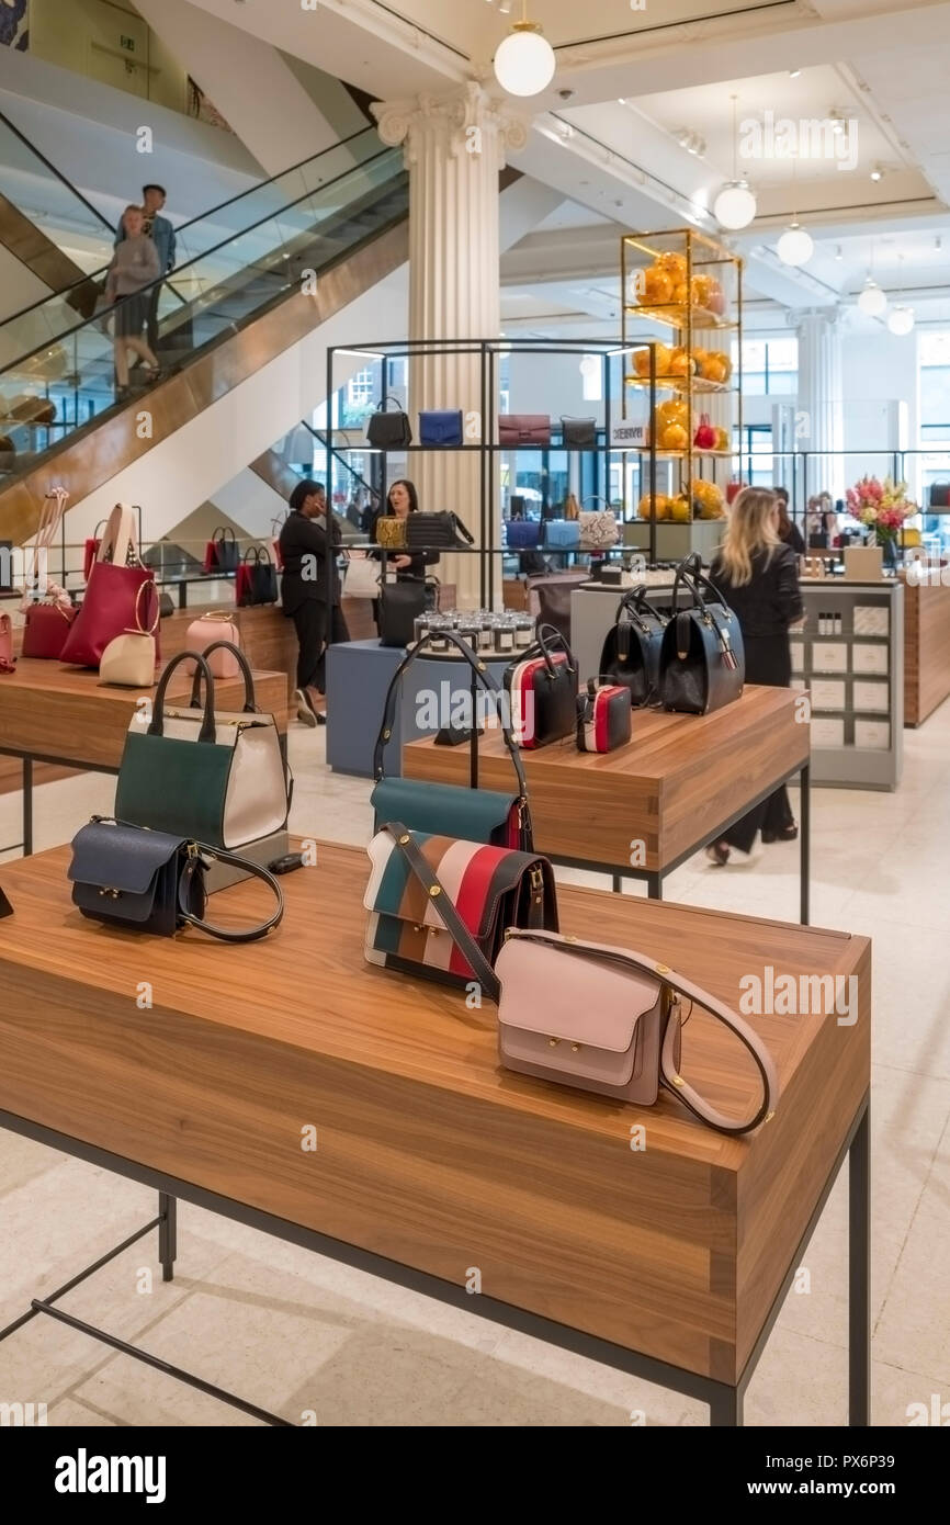
[{"label": "large foreground wooden table holding the striped and pink handbags", "polygon": [[[866,938],[560,891],[564,930],[650,950],[732,1003],[769,965],[857,978],[845,1025],[752,1019],[781,1093],[770,1122],[730,1139],[665,1092],[637,1109],[502,1072],[494,1006],[470,1011],[464,993],[367,967],[363,851],[320,845],[316,868],[282,881],[281,929],[246,947],[84,921],[67,863],[58,848],[0,868],[14,907],[0,936],[0,1125],[157,1188],[166,1279],[181,1197],[737,1424],[851,1148],[851,1423],[868,1423]],[[261,894],[239,884],[215,912],[253,915]],[[698,1010],[683,1072],[726,1110],[756,1093],[744,1051]],[[308,1124],[316,1153],[302,1148]],[[637,1124],[645,1150],[631,1147]],[[471,1267],[480,1295],[467,1292]],[[69,1319],[55,1299],[32,1312]]]}]

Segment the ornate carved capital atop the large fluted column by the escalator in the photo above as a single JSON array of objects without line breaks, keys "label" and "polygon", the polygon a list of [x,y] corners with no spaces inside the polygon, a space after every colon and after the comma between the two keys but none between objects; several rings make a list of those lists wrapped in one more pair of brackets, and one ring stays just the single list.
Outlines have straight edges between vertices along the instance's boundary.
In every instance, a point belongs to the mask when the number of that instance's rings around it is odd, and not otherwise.
[{"label": "ornate carved capital atop the large fluted column by the escalator", "polygon": [[427,145],[442,143],[459,159],[465,152],[482,154],[488,139],[503,169],[505,149],[517,152],[528,142],[528,122],[493,99],[477,79],[468,79],[450,95],[377,101],[371,110],[383,142],[389,148],[403,145],[407,168],[418,163]]}]

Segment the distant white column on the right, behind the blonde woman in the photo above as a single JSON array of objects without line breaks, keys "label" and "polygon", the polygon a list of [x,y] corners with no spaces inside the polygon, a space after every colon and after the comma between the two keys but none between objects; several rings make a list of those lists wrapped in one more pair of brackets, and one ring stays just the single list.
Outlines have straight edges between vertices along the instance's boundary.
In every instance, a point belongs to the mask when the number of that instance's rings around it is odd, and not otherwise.
[{"label": "distant white column on the right, behind the blonde woman", "polygon": [[[837,311],[798,314],[798,416],[796,448],[813,453],[843,448],[842,329]],[[846,464],[814,461],[808,473],[810,494],[845,496]]]}]

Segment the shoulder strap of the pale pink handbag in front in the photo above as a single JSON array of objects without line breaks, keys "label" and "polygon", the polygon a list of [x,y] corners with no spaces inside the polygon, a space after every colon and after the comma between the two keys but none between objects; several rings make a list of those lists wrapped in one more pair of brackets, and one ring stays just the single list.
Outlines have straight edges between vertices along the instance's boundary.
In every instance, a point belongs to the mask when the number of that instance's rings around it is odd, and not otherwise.
[{"label": "shoulder strap of the pale pink handbag in front", "polygon": [[[567,939],[550,932],[523,932],[512,929],[509,933],[512,938],[534,938],[543,942],[566,942]],[[679,1096],[685,1107],[700,1118],[701,1122],[709,1122],[711,1127],[718,1128],[720,1133],[750,1133],[759,1125],[759,1122],[767,1122],[775,1110],[775,1100],[778,1096],[778,1075],[775,1071],[773,1058],[759,1039],[755,1028],[752,1028],[740,1014],[727,1006],[723,1000],[718,1000],[701,985],[695,985],[692,981],[679,974],[676,970],[669,968],[666,964],[657,964],[653,959],[640,958],[636,953],[628,953],[625,949],[605,947],[598,942],[570,942],[569,952],[581,958],[590,958],[592,961],[607,959],[611,964],[624,964],[628,968],[636,968],[640,974],[650,974],[662,985],[668,985],[676,994],[686,996],[691,1002],[703,1006],[712,1017],[721,1022],[724,1026],[733,1032],[744,1048],[752,1054],[755,1066],[759,1072],[762,1081],[762,1101],[753,1116],[744,1122],[737,1122],[735,1118],[727,1116],[727,1113],[720,1112],[709,1101],[704,1100],[677,1071],[676,1066],[676,1045],[682,1028],[682,1016],[679,1011],[679,1003],[669,1014],[666,1023],[666,1031],[663,1034],[663,1045],[660,1051],[660,1080],[668,1090]]]}]

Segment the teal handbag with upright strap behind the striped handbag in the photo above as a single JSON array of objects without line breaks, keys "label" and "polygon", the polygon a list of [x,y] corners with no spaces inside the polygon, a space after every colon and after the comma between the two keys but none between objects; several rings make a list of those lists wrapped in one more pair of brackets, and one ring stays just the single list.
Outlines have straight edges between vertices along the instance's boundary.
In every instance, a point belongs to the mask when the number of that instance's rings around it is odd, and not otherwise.
[{"label": "teal handbag with upright strap behind the striped handbag", "polygon": [[489,668],[473,657],[471,650],[454,631],[441,630],[439,640],[456,647],[462,659],[468,662],[477,686],[494,697],[502,720],[502,738],[517,778],[517,793],[503,795],[488,788],[465,788],[461,784],[428,784],[415,778],[386,778],[384,752],[386,743],[392,737],[403,676],[416,657],[424,656],[433,644],[432,634],[422,636],[406,653],[406,657],[393,673],[386,694],[383,724],[377,737],[372,762],[377,781],[371,795],[371,805],[375,811],[374,830],[380,831],[387,820],[404,820],[410,831],[425,831],[439,837],[462,837],[465,842],[482,842],[497,848],[517,848],[522,852],[532,852],[534,836],[531,813],[528,810],[528,781],[525,779],[525,769],[511,734],[511,726],[506,723],[502,691]]}]

